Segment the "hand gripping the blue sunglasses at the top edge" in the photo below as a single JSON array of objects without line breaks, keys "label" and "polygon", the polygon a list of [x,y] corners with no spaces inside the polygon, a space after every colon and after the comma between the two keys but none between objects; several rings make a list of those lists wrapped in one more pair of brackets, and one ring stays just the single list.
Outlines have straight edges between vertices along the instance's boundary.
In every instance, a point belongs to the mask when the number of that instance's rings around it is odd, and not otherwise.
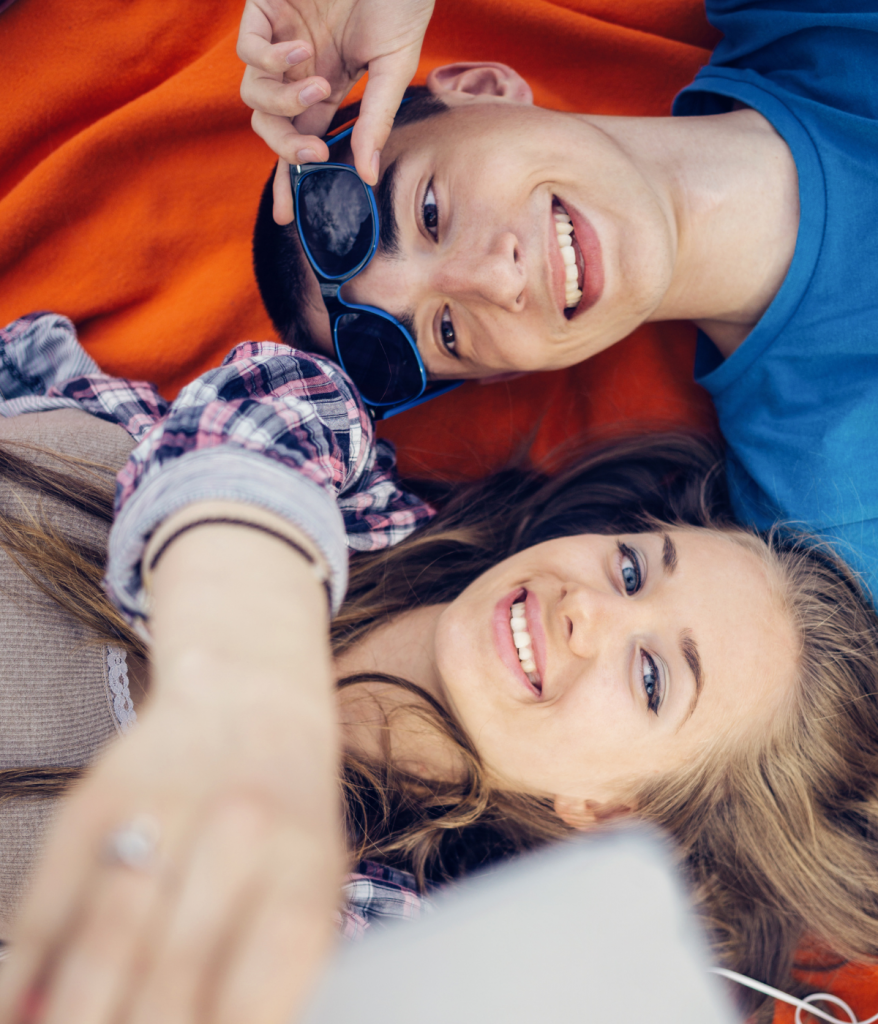
[{"label": "hand gripping the blue sunglasses at the top edge", "polygon": [[281,158],[278,223],[293,219],[289,164],[327,159],[320,136],[367,69],[351,145],[360,175],[377,182],[432,9],[433,0],[247,0],[238,37],[238,55],[248,65],[241,95],[253,108],[254,131]]}]

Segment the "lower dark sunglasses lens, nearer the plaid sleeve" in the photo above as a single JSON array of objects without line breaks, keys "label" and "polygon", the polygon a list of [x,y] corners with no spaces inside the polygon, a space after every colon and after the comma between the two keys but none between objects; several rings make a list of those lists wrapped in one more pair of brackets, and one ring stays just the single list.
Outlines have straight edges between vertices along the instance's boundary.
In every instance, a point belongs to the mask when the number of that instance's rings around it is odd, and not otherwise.
[{"label": "lower dark sunglasses lens, nearer the plaid sleeve", "polygon": [[382,316],[345,313],[336,324],[338,355],[363,397],[373,406],[416,398],[421,368],[409,339]]}]

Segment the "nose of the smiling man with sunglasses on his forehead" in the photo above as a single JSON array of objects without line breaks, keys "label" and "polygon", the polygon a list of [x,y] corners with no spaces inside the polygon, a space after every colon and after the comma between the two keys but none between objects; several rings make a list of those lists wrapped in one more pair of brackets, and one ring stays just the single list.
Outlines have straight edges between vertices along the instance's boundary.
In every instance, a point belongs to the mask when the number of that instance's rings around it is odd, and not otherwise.
[{"label": "nose of the smiling man with sunglasses on his forehead", "polygon": [[465,240],[440,259],[433,287],[450,298],[477,298],[509,312],[525,306],[527,271],[517,238],[506,231],[490,245],[470,246]]}]

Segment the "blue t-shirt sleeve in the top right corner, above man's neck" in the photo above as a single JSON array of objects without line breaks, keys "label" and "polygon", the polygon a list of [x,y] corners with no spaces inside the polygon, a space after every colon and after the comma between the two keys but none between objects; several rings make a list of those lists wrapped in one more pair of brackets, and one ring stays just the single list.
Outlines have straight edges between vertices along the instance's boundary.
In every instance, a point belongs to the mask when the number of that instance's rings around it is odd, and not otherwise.
[{"label": "blue t-shirt sleeve in the top right corner, above man's neck", "polygon": [[743,71],[804,99],[878,116],[876,0],[707,0],[705,6],[723,34],[707,72]]}]

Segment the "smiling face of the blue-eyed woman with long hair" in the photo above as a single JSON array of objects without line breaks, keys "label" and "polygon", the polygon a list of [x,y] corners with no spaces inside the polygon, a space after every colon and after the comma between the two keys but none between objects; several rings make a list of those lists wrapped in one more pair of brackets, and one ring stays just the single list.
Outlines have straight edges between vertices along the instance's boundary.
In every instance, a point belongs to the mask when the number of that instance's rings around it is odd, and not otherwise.
[{"label": "smiling face of the blue-eyed woman with long hair", "polygon": [[446,606],[433,642],[438,691],[492,772],[574,818],[763,728],[798,649],[759,557],[698,529],[537,545]]}]

